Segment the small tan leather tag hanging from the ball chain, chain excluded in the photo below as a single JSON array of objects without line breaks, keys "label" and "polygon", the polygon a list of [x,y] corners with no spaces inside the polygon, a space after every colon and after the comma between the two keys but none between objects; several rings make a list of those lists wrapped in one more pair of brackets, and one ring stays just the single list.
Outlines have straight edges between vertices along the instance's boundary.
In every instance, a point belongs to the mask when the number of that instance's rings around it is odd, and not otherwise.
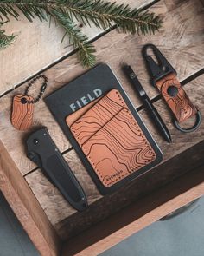
[{"label": "small tan leather tag hanging from the ball chain, chain excluded", "polygon": [[34,104],[21,102],[22,98],[32,101],[31,96],[16,95],[13,98],[11,123],[18,130],[27,130],[33,124]]}]

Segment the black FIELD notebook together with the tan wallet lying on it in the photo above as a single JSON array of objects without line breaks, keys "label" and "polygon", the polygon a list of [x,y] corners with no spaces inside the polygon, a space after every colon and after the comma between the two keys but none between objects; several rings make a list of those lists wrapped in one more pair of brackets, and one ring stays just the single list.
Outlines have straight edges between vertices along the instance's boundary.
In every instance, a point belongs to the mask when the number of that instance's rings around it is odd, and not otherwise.
[{"label": "black FIELD notebook together with the tan wallet lying on it", "polygon": [[156,141],[105,64],[45,99],[101,194],[162,161]]}]

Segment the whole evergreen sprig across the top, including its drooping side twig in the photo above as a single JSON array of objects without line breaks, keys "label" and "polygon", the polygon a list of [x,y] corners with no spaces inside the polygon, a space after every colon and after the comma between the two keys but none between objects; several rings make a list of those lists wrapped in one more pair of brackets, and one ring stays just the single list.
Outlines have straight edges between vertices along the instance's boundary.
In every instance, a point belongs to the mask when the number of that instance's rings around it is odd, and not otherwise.
[{"label": "whole evergreen sprig across the top, including its drooping side twig", "polygon": [[10,16],[19,17],[19,10],[30,22],[35,16],[43,21],[54,20],[63,27],[69,42],[78,49],[84,66],[95,62],[94,48],[88,37],[75,25],[75,20],[91,26],[91,22],[103,29],[115,24],[118,31],[135,34],[154,34],[161,27],[160,16],[143,9],[131,9],[129,5],[109,3],[104,0],[0,0],[0,20],[9,21]]}]

